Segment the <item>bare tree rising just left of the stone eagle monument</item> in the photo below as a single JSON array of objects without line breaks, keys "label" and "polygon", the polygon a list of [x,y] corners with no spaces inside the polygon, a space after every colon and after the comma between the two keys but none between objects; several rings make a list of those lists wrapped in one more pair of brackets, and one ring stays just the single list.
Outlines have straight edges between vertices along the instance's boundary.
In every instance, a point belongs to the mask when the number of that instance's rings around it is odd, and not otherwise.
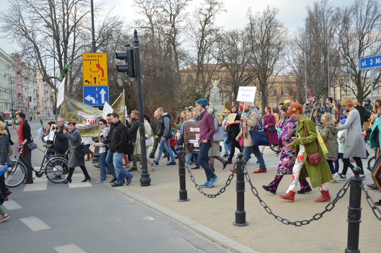
[{"label": "bare tree rising just left of the stone eagle monument", "polygon": [[223,2],[206,0],[196,7],[188,20],[188,37],[194,51],[189,66],[195,71],[195,86],[200,88],[201,97],[210,90],[211,79],[221,69],[218,62],[216,43],[220,40],[221,28],[215,25],[215,18],[224,8]]}]

